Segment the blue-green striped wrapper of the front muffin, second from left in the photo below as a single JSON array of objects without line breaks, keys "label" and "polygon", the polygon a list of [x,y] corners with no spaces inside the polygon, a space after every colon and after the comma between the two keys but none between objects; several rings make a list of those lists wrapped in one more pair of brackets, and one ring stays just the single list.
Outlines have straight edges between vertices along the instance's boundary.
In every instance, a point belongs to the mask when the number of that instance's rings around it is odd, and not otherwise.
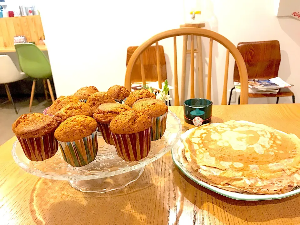
[{"label": "blue-green striped wrapper of the front muffin, second from left", "polygon": [[97,129],[87,137],[73,142],[58,141],[63,159],[71,166],[82,167],[96,158],[98,152]]}]

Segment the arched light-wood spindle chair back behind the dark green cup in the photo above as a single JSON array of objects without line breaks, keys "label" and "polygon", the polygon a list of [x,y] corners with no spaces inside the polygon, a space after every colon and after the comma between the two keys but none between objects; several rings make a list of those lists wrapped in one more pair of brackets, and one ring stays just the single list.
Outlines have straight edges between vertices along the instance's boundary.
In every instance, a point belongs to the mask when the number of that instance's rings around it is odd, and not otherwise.
[{"label": "arched light-wood spindle chair back behind the dark green cup", "polygon": [[[173,30],[164,31],[161,33],[158,33],[157,35],[154,35],[151,37],[148,41],[144,42],[141,46],[139,46],[134,53],[132,54],[126,70],[125,75],[125,87],[131,91],[131,74],[133,71],[133,65],[135,62],[140,58],[140,55],[151,45],[154,43],[156,44],[156,47],[158,49],[158,41],[173,37],[174,40],[174,88],[175,88],[175,94],[174,94],[174,104],[179,105],[179,95],[178,95],[178,74],[177,74],[177,45],[176,45],[176,37],[182,36],[182,35],[191,35],[192,40],[193,36],[202,36],[202,37],[208,37],[210,38],[210,44],[209,44],[209,61],[208,61],[208,79],[207,79],[207,94],[206,98],[211,100],[211,79],[212,79],[212,42],[213,40],[219,42],[224,47],[227,48],[226,53],[226,64],[225,64],[225,78],[224,78],[224,86],[223,86],[223,95],[222,95],[222,105],[227,104],[227,78],[228,78],[228,65],[229,65],[229,53],[232,54],[233,58],[235,59],[238,67],[238,71],[240,74],[240,80],[241,80],[241,104],[247,104],[248,103],[248,77],[247,77],[247,69],[245,62],[242,58],[241,53],[237,50],[237,47],[235,47],[232,42],[230,42],[226,37],[223,37],[222,35],[202,29],[202,28],[195,28],[195,27],[186,27],[186,28],[178,28]],[[191,49],[193,49],[193,41],[191,43]],[[159,65],[159,52],[157,51],[157,64]],[[195,89],[194,89],[194,54],[191,54],[191,97],[194,98],[195,96]],[[158,71],[158,80],[161,80],[161,71],[160,66],[157,66]],[[142,80],[143,83],[145,81],[145,75],[142,73]],[[198,81],[199,83],[202,81]],[[145,83],[144,83],[145,84]],[[158,83],[160,84],[160,83]],[[160,87],[161,88],[161,84]]]}]

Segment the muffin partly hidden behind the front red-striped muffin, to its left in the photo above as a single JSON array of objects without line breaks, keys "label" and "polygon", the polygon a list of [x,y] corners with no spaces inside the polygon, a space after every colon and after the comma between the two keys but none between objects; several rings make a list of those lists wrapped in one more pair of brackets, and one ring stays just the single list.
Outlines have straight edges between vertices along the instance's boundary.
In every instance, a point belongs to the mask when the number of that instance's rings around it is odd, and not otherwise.
[{"label": "muffin partly hidden behind the front red-striped muffin, to its left", "polygon": [[98,107],[94,113],[94,119],[98,123],[98,131],[101,131],[102,137],[106,143],[115,145],[110,133],[109,123],[113,118],[124,111],[131,110],[128,105],[115,103],[104,103]]}]

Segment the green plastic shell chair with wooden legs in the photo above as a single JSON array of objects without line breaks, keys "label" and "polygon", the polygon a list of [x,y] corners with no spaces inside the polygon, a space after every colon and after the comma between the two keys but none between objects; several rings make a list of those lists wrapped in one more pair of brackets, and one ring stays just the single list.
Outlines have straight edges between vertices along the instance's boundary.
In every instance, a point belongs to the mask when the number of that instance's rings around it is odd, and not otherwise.
[{"label": "green plastic shell chair with wooden legs", "polygon": [[54,102],[54,95],[49,80],[49,78],[52,76],[51,66],[49,60],[46,58],[44,53],[35,44],[32,43],[15,44],[15,48],[19,59],[19,65],[21,71],[24,72],[27,76],[33,78],[30,103],[29,103],[29,112],[31,112],[35,82],[36,79],[38,78],[43,79],[46,100],[48,100],[47,86],[46,86],[46,80],[47,80],[49,93],[52,102]]}]

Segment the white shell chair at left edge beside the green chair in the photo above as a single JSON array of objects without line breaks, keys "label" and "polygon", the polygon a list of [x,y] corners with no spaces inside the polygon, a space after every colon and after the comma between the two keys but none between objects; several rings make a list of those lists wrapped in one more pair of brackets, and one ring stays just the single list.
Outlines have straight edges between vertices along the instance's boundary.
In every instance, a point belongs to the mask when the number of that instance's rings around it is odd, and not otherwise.
[{"label": "white shell chair at left edge beside the green chair", "polygon": [[19,81],[27,78],[25,73],[17,70],[12,59],[8,55],[0,55],[0,84],[4,84],[8,96],[8,101],[11,101],[15,112],[18,114],[15,104],[10,94],[8,83]]}]

